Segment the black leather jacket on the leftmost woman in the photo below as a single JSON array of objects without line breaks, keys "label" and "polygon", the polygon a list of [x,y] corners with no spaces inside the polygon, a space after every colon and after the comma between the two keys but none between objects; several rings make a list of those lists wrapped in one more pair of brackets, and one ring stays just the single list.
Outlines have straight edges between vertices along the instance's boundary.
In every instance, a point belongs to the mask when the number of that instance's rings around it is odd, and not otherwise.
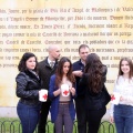
[{"label": "black leather jacket on the leftmost woman", "polygon": [[25,104],[39,103],[40,79],[29,70],[20,72],[17,78],[17,96]]}]

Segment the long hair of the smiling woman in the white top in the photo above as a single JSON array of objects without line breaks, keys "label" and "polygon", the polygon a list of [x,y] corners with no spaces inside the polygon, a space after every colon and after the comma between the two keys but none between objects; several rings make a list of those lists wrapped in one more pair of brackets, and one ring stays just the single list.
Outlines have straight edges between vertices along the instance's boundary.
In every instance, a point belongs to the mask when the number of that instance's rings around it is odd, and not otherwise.
[{"label": "long hair of the smiling woman in the white top", "polygon": [[123,72],[122,72],[122,70],[121,70],[122,61],[127,61],[129,66],[130,66],[129,79],[132,79],[132,76],[133,76],[133,63],[132,63],[132,60],[131,60],[130,58],[122,58],[122,59],[120,60],[120,64],[119,64],[119,76],[120,76],[120,75],[123,75]]}]

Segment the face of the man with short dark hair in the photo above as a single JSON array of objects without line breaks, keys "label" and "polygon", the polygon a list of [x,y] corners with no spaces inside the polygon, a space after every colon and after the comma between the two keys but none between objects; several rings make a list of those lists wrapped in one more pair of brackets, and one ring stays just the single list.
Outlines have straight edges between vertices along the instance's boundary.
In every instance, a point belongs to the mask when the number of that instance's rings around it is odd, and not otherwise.
[{"label": "face of the man with short dark hair", "polygon": [[81,60],[82,60],[83,62],[85,62],[86,57],[88,57],[89,53],[90,53],[89,48],[81,48],[81,49],[80,49],[79,54],[80,54],[80,58],[81,58]]}]

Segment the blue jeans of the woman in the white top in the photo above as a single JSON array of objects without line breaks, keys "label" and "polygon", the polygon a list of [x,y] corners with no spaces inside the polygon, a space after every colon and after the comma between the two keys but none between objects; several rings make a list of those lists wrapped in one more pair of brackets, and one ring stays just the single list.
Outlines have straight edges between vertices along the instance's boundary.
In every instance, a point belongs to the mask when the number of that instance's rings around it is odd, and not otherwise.
[{"label": "blue jeans of the woman in the white top", "polygon": [[116,133],[133,133],[133,106],[114,105]]}]

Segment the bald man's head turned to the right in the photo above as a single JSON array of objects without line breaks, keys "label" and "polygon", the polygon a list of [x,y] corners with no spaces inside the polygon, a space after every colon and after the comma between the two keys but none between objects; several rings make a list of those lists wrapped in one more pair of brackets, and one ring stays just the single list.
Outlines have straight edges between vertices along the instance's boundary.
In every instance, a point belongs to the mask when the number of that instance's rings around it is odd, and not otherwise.
[{"label": "bald man's head turned to the right", "polygon": [[50,54],[53,60],[60,59],[60,48],[55,47],[54,49],[51,50]]}]

